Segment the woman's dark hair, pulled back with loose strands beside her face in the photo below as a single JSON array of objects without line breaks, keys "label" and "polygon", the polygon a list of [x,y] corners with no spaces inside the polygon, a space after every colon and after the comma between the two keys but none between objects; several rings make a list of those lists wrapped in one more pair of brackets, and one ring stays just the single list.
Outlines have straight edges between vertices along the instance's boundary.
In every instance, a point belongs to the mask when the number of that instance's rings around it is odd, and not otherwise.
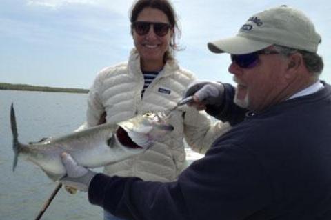
[{"label": "woman's dark hair, pulled back with loose strands beside her face", "polygon": [[[180,50],[179,46],[176,43],[176,39],[179,39],[181,36],[181,30],[179,29],[179,24],[177,21],[177,14],[172,7],[172,4],[168,0],[137,0],[133,3],[132,9],[130,12],[130,22],[134,23],[137,21],[139,13],[144,8],[156,8],[161,10],[167,17],[170,23],[171,28],[174,30],[172,39],[170,40],[170,48],[165,52],[163,61],[168,59],[173,59],[174,52]],[[132,29],[131,29],[132,33]]]}]

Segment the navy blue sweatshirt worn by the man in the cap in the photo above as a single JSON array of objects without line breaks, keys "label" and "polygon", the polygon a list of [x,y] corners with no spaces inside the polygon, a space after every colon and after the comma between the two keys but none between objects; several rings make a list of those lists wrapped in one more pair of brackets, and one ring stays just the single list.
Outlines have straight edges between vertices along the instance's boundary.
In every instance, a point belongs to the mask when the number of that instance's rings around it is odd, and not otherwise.
[{"label": "navy blue sweatshirt worn by the man in the cap", "polygon": [[[223,103],[218,117],[233,128],[178,181],[97,174],[89,200],[127,219],[331,219],[331,87],[324,86],[243,121],[244,110]],[[233,92],[225,87],[225,97]]]}]

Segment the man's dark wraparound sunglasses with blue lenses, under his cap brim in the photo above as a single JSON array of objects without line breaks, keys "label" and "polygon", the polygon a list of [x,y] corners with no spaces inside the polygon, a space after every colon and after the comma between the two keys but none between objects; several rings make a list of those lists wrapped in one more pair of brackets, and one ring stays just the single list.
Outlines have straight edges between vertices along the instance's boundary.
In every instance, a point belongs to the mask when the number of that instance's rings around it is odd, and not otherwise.
[{"label": "man's dark wraparound sunglasses with blue lenses, under his cap brim", "polygon": [[259,63],[259,55],[279,54],[274,50],[259,50],[250,54],[231,54],[232,63],[236,63],[241,68],[253,68]]}]

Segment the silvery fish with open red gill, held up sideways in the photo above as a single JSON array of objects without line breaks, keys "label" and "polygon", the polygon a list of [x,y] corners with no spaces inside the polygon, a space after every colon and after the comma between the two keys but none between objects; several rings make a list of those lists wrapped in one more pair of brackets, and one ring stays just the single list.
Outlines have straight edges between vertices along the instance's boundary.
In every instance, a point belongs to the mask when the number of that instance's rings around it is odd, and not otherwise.
[{"label": "silvery fish with open red gill, held up sideways", "polygon": [[146,112],[119,123],[105,123],[86,130],[72,132],[61,137],[50,137],[38,142],[19,142],[17,122],[12,103],[10,124],[12,128],[14,161],[23,157],[39,166],[53,181],[66,174],[61,154],[67,152],[75,161],[86,168],[97,168],[134,157],[162,141],[174,127],[168,123],[163,112]]}]

